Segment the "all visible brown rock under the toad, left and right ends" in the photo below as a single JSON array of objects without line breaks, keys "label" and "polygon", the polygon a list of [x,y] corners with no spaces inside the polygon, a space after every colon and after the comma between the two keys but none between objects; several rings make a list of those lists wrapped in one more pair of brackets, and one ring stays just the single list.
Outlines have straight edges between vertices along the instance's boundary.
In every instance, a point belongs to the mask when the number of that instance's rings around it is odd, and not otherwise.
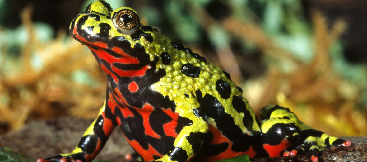
[{"label": "all visible brown rock under the toad, left and right ends", "polygon": [[[9,147],[30,158],[46,158],[72,151],[79,143],[92,120],[63,117],[33,121],[22,129],[0,136],[0,147]],[[333,147],[324,150],[319,162],[367,162],[367,138],[347,137],[351,147]],[[124,140],[121,130],[116,128],[96,160],[128,161],[126,154],[132,149]],[[254,158],[251,162],[311,162],[310,156]]]}]

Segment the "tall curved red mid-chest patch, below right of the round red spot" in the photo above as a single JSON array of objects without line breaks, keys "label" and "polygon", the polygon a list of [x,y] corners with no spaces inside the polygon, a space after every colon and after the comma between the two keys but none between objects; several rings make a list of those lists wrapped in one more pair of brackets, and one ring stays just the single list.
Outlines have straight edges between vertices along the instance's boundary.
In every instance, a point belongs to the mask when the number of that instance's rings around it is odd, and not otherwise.
[{"label": "tall curved red mid-chest patch, below right of the round red spot", "polygon": [[149,136],[152,136],[152,137],[155,137],[155,138],[160,138],[160,136],[153,131],[152,127],[149,124],[149,115],[150,115],[150,113],[152,113],[153,109],[154,108],[152,107],[152,105],[149,105],[148,103],[145,103],[143,108],[138,112],[143,117],[143,125],[144,125],[144,129],[145,129],[145,134],[149,135]]}]

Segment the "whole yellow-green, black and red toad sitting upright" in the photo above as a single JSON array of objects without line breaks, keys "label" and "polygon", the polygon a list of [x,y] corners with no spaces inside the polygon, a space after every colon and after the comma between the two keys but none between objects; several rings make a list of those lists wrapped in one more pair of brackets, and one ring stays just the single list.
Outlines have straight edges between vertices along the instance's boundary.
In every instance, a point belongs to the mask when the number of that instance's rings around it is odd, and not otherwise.
[{"label": "whole yellow-green, black and red toad sitting upright", "polygon": [[[261,122],[230,75],[182,44],[139,23],[136,11],[90,4],[70,24],[107,73],[106,100],[75,150],[38,162],[95,158],[116,126],[144,161],[214,162],[248,154],[312,155],[349,141],[264,107]],[[348,143],[349,142],[349,143]]]}]

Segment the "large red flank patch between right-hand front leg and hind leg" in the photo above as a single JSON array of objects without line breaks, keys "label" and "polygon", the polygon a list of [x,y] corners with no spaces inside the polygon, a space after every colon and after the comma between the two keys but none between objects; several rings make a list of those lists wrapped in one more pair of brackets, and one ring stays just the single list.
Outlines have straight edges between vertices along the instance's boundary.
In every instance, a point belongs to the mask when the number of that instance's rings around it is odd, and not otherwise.
[{"label": "large red flank patch between right-hand front leg and hind leg", "polygon": [[229,146],[227,148],[227,150],[225,150],[224,152],[221,152],[218,155],[215,156],[210,156],[207,158],[204,158],[203,160],[206,162],[213,162],[213,161],[218,161],[220,159],[225,159],[225,158],[232,158],[238,155],[243,155],[243,154],[247,154],[250,158],[254,158],[256,155],[256,152],[254,150],[254,148],[252,148],[252,146],[250,146],[250,148],[248,148],[248,150],[246,152],[235,152],[232,151],[232,142],[228,140],[228,138],[226,138],[225,136],[223,136],[223,134],[214,126],[209,125],[209,131],[213,134],[214,138],[211,142],[211,144],[221,144],[221,143],[228,143]]}]

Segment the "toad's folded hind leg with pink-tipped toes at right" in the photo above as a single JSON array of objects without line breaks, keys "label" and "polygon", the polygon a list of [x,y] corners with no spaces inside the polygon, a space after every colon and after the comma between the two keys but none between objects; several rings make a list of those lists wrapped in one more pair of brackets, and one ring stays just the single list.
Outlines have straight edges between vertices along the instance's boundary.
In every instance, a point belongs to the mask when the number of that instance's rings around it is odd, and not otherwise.
[{"label": "toad's folded hind leg with pink-tipped toes at right", "polygon": [[329,136],[298,120],[288,108],[268,105],[260,111],[262,145],[270,157],[311,155],[317,162],[320,151],[333,146],[350,146],[350,141]]}]

